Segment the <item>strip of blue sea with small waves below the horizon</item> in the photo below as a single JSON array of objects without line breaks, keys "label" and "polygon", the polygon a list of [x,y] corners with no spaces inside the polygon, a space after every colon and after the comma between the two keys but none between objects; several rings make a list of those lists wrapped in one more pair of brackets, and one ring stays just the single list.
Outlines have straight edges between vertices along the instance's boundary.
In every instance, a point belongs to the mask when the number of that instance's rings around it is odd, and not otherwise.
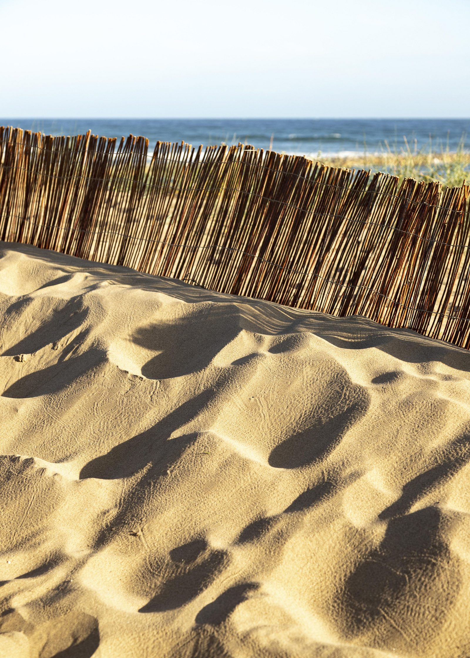
[{"label": "strip of blue sea with small waves below the horizon", "polygon": [[[132,118],[1,118],[0,125],[54,135],[91,130],[105,137],[143,135],[150,149],[156,141],[192,145],[251,144],[286,153],[344,155],[409,148],[433,152],[456,151],[470,134],[470,118],[462,119],[132,119]],[[468,149],[467,142],[465,147]]]}]

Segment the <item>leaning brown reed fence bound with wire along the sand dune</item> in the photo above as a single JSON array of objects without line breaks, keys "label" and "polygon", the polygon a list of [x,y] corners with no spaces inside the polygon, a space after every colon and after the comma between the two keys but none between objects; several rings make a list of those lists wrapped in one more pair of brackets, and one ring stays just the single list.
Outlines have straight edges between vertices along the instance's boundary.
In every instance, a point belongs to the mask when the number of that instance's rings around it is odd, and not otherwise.
[{"label": "leaning brown reed fence bound with wire along the sand dune", "polygon": [[470,347],[469,186],[0,128],[0,239]]}]

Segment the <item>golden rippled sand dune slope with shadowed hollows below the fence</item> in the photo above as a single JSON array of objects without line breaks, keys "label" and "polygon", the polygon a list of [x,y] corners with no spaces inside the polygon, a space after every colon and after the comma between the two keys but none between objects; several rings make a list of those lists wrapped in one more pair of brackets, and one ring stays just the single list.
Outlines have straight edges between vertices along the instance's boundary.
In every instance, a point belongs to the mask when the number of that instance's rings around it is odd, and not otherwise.
[{"label": "golden rippled sand dune slope with shadowed hollows below the fence", "polygon": [[470,655],[469,352],[1,249],[1,656]]}]

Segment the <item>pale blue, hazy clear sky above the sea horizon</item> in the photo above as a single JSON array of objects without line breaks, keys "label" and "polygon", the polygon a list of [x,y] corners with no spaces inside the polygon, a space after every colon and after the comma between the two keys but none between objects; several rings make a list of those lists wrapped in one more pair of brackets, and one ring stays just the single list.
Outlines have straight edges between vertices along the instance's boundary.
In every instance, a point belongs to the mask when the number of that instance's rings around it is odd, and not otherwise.
[{"label": "pale blue, hazy clear sky above the sea horizon", "polygon": [[470,0],[0,0],[10,117],[466,117]]}]

